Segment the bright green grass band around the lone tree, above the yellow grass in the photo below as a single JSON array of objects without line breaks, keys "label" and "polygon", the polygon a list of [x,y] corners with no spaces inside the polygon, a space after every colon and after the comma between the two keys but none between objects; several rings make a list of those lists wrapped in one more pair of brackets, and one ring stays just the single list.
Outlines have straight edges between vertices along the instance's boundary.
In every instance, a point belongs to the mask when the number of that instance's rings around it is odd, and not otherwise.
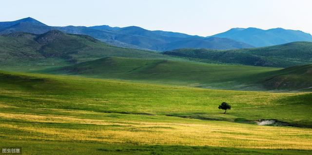
[{"label": "bright green grass band around the lone tree, above the yellow grass", "polygon": [[[312,125],[312,121],[306,118],[311,110],[307,107],[312,98],[310,93],[211,90],[70,76],[29,75],[1,74],[2,89],[22,90],[20,94],[4,91],[2,103],[36,108],[201,116],[225,121],[235,121],[237,118],[277,119]],[[220,114],[221,111],[216,108],[224,101],[231,103],[235,109],[229,115]],[[255,110],[258,112],[255,113]]]}]

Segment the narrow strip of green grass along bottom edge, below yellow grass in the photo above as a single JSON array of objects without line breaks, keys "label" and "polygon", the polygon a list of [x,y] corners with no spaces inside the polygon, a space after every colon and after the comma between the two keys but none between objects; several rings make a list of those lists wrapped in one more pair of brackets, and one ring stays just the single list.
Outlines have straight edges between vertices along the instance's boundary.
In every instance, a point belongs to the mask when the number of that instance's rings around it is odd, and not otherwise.
[{"label": "narrow strip of green grass along bottom edge, below yellow grass", "polygon": [[[179,145],[108,145],[92,142],[11,140],[7,145],[24,146],[24,155],[309,155],[307,150],[242,149]],[[51,147],[54,146],[54,147]]]}]

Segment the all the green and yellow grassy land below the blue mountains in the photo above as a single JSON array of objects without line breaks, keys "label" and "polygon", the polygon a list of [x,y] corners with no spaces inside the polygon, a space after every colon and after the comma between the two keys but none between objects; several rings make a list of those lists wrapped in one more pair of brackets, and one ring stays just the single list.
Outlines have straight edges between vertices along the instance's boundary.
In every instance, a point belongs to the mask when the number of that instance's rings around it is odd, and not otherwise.
[{"label": "all the green and yellow grassy land below the blue mountains", "polygon": [[[297,42],[169,55],[286,67],[311,62],[310,49]],[[0,67],[32,72],[0,71],[0,146],[21,146],[24,155],[312,153],[312,93],[233,90],[311,91],[311,65],[195,63],[50,31],[0,36]],[[232,105],[227,114],[217,109],[222,102]]]}]

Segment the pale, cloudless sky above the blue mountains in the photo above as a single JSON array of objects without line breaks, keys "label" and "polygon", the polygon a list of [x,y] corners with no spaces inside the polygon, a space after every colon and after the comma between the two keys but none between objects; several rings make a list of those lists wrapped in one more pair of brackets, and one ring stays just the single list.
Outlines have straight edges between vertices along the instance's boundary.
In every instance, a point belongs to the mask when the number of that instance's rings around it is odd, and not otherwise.
[{"label": "pale, cloudless sky above the blue mountains", "polygon": [[139,26],[209,36],[231,28],[312,34],[312,0],[3,0],[0,21],[33,17],[50,26]]}]

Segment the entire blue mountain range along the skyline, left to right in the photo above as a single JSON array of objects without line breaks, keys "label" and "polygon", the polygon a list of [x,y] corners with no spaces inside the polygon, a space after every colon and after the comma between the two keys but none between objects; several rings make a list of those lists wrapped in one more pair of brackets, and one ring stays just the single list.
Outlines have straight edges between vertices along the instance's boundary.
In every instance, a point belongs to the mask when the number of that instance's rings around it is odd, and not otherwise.
[{"label": "entire blue mountain range along the skyline, left to right", "polygon": [[181,48],[194,49],[243,49],[285,44],[295,41],[312,41],[312,35],[302,31],[282,28],[261,30],[257,28],[234,28],[208,37],[166,31],[149,31],[137,26],[48,26],[27,17],[16,21],[0,22],[0,34],[27,32],[43,34],[59,30],[68,34],[90,35],[110,45],[154,51],[170,51]]}]

